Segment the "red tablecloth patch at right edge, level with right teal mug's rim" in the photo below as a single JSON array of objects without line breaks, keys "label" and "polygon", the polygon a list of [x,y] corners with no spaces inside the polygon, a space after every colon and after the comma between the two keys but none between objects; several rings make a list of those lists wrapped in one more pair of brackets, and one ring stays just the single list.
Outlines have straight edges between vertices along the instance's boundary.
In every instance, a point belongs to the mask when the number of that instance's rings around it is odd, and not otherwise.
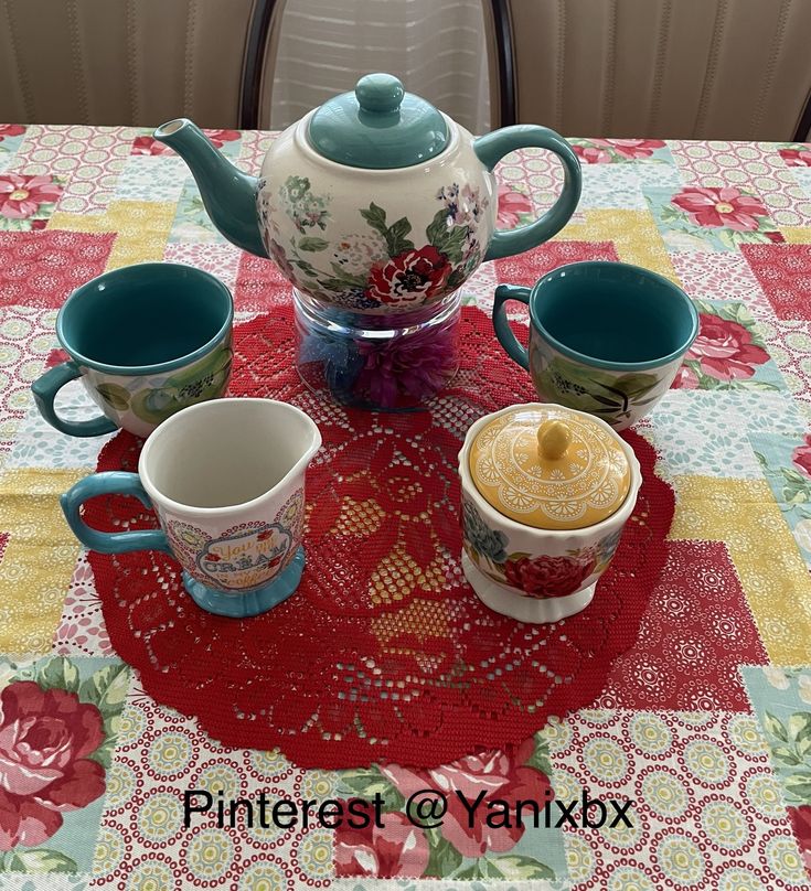
[{"label": "red tablecloth patch at right edge, level with right teal mug's rim", "polygon": [[778,319],[811,319],[811,245],[741,245]]}]

